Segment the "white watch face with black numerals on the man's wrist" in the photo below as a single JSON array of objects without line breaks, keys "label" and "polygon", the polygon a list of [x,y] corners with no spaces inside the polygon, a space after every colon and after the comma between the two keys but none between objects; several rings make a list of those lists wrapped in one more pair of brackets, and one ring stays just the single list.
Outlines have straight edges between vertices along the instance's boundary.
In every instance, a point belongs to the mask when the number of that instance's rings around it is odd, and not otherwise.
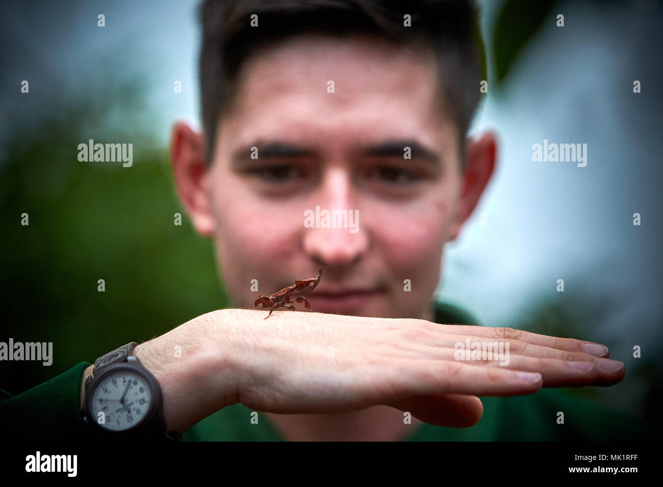
[{"label": "white watch face with black numerals on the man's wrist", "polygon": [[90,421],[112,431],[129,429],[143,421],[150,400],[143,376],[129,369],[113,370],[95,386]]}]

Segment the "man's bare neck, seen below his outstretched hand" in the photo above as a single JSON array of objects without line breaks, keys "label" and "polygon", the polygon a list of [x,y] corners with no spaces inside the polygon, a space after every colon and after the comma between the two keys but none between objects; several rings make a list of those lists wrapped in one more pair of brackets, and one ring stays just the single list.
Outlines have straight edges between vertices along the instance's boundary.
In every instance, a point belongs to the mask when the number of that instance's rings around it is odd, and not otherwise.
[{"label": "man's bare neck, seen below his outstretched hand", "polygon": [[[434,303],[420,319],[435,321]],[[403,411],[389,406],[335,414],[265,414],[288,441],[401,441],[423,424],[415,417],[406,423]]]}]

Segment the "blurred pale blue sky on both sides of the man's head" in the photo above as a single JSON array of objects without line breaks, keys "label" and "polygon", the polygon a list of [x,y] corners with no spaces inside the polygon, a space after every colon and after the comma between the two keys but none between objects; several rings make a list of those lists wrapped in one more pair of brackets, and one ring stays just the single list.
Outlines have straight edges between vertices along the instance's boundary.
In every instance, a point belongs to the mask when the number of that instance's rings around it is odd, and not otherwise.
[{"label": "blurred pale blue sky on both sides of the man's head", "polygon": [[[200,127],[193,1],[4,1],[2,133],[76,99],[96,76],[147,93],[127,120],[165,147],[178,118]],[[501,2],[483,1],[489,52]],[[619,303],[602,326],[642,343],[661,339],[661,7],[655,2],[562,2],[489,94],[472,131],[499,134],[495,178],[457,243],[449,244],[438,291],[485,325],[510,325],[535,299]],[[105,28],[97,27],[97,14]],[[557,13],[566,27],[554,25]],[[517,28],[517,26],[514,26]],[[17,54],[20,53],[20,54]],[[493,77],[489,76],[489,80]],[[19,105],[30,80],[30,107]],[[182,93],[173,83],[182,81]],[[633,93],[633,80],[642,93]],[[54,109],[54,108],[53,108]],[[587,166],[532,162],[532,144],[586,143]],[[486,212],[488,225],[480,225]],[[642,215],[634,227],[633,213]],[[556,292],[564,279],[565,293]],[[607,343],[607,340],[605,341]],[[631,342],[626,344],[632,347]]]}]

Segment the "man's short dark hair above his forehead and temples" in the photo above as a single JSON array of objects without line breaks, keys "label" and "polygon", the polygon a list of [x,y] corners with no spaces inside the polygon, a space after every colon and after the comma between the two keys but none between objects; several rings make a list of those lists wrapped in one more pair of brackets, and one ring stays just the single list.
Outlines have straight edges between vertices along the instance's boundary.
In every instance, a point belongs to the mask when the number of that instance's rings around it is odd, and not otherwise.
[{"label": "man's short dark hair above his forehead and temples", "polygon": [[[471,0],[204,0],[200,5],[200,106],[211,164],[219,117],[237,94],[241,63],[262,45],[296,34],[370,34],[430,46],[440,94],[463,140],[479,103],[486,62],[479,13]],[[259,27],[251,27],[251,15]],[[404,15],[411,27],[404,26]]]}]

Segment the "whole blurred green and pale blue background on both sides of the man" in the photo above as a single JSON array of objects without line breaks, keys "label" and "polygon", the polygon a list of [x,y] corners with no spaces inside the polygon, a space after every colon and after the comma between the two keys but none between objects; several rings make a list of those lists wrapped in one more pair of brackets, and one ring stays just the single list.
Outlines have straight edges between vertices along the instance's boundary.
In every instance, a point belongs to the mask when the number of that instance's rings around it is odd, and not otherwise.
[{"label": "whole blurred green and pale blue background on both sides of the man", "polygon": [[[172,121],[197,119],[195,5],[0,7],[0,341],[54,343],[52,366],[0,362],[12,394],[229,305],[168,161]],[[450,246],[440,298],[485,325],[605,343],[627,377],[573,393],[660,427],[660,3],[481,5],[490,89],[474,127],[499,131],[500,167],[476,212],[491,223],[475,215]],[[90,138],[133,143],[133,166],[78,162]],[[535,166],[543,138],[589,141],[587,168]]]}]

